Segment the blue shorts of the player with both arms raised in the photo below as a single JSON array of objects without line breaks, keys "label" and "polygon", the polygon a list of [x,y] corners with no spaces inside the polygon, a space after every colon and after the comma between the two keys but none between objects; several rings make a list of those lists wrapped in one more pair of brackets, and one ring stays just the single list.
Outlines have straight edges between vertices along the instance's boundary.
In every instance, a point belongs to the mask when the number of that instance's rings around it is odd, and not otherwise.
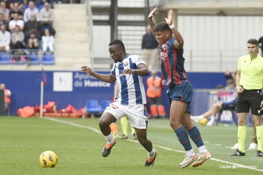
[{"label": "blue shorts of the player with both arms raised", "polygon": [[172,100],[187,103],[186,112],[191,112],[191,100],[193,98],[193,87],[190,82],[169,86],[168,92],[169,105]]}]

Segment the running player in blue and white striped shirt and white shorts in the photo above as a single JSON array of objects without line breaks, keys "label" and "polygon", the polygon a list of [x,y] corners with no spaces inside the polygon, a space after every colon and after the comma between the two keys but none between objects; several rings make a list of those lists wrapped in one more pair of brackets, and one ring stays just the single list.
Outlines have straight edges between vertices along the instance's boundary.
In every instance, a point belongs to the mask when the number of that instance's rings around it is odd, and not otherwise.
[{"label": "running player in blue and white striped shirt and white shorts", "polygon": [[145,166],[153,166],[157,153],[151,141],[147,139],[148,118],[144,106],[146,96],[141,77],[148,76],[149,71],[139,56],[126,53],[121,40],[117,39],[110,42],[109,52],[115,62],[110,75],[93,72],[88,66],[81,67],[82,72],[86,72],[101,81],[107,83],[117,81],[118,95],[115,102],[106,108],[99,121],[100,130],[107,140],[102,156],[107,157],[116,143],[109,125],[126,115],[130,119],[131,127],[136,131],[138,141],[148,152]]}]

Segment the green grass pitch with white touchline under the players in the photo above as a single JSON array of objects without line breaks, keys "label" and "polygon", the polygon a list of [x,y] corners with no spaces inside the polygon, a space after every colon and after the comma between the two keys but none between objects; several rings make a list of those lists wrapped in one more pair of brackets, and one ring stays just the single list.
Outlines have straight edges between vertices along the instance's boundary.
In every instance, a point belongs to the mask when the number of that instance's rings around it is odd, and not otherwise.
[{"label": "green grass pitch with white touchline under the players", "polygon": [[[246,150],[244,157],[229,157],[237,142],[237,127],[201,126],[197,124],[212,159],[202,166],[180,169],[183,146],[169,126],[169,120],[149,120],[147,136],[158,152],[155,165],[145,167],[146,150],[138,143],[117,138],[108,157],[102,157],[105,138],[99,131],[99,119],[49,119],[0,117],[0,174],[262,174],[263,158],[253,157],[256,150]],[[117,122],[119,135],[122,130]],[[129,138],[131,138],[130,131]],[[252,138],[247,127],[246,149]],[[191,142],[195,152],[195,144]],[[39,156],[43,151],[58,156],[54,168],[43,168]],[[227,162],[226,162],[227,161]],[[254,166],[232,168],[233,164]]]}]

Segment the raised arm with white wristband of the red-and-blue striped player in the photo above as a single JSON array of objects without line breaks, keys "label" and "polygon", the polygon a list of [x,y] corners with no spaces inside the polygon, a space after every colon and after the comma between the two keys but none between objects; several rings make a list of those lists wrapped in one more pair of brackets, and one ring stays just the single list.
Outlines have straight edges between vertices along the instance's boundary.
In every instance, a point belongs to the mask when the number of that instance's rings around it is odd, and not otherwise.
[{"label": "raised arm with white wristband of the red-and-blue striped player", "polygon": [[[173,14],[174,14],[173,10],[170,9],[168,18],[164,18],[165,21],[166,21],[166,24],[168,24],[169,26],[173,24],[173,22],[172,22]],[[179,33],[179,31],[175,27],[171,28],[171,30],[172,30],[172,32],[174,34],[174,38],[176,39],[175,42],[174,42],[174,46],[177,49],[183,48],[183,46],[184,46],[184,39],[183,39],[182,35]]]}]

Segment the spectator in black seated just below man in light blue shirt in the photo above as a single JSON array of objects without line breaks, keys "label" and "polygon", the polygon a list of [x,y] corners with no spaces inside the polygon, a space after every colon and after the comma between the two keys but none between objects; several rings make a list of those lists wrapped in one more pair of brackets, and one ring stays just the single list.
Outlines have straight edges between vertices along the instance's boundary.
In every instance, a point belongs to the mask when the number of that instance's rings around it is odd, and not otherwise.
[{"label": "spectator in black seated just below man in light blue shirt", "polygon": [[26,22],[24,29],[26,40],[29,38],[29,31],[33,29],[37,32],[37,38],[40,40],[42,36],[42,25],[39,21],[36,20],[36,15],[34,13],[31,13],[30,20]]}]

